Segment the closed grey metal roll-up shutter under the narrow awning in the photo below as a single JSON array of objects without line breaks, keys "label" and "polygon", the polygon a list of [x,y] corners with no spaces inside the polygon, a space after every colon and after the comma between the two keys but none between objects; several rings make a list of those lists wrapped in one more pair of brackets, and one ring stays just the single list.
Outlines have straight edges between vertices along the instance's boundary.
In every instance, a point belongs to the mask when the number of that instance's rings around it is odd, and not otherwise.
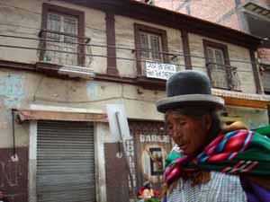
[{"label": "closed grey metal roll-up shutter under the narrow awning", "polygon": [[37,201],[95,202],[93,124],[42,120],[37,136]]}]

